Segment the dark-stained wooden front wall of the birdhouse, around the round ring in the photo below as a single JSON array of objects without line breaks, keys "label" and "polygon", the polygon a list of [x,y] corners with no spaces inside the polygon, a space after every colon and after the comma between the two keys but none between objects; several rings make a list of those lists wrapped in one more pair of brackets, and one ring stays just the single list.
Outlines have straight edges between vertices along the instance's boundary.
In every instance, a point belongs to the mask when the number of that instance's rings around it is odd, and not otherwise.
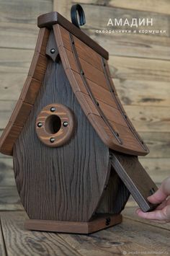
[{"label": "dark-stained wooden front wall of the birdhouse, around the round ring", "polygon": [[[53,102],[66,105],[76,117],[74,136],[58,148],[45,146],[35,133],[37,115]],[[91,218],[109,178],[109,150],[81,110],[61,61],[49,59],[45,79],[13,156],[17,189],[30,219]]]}]

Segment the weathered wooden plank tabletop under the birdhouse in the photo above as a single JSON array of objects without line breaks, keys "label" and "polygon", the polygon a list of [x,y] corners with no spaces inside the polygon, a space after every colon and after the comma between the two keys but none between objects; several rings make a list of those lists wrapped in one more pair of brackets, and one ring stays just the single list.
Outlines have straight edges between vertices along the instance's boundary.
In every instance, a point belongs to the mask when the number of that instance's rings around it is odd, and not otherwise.
[{"label": "weathered wooden plank tabletop under the birdhouse", "polygon": [[[1,212],[1,256],[112,256],[128,255],[169,255],[168,224],[143,219],[130,219],[135,208],[126,209],[122,224],[94,234],[57,234],[55,232],[28,231],[24,229],[27,215],[23,212]],[[132,215],[133,216],[133,215]],[[4,250],[6,248],[6,251]]]}]

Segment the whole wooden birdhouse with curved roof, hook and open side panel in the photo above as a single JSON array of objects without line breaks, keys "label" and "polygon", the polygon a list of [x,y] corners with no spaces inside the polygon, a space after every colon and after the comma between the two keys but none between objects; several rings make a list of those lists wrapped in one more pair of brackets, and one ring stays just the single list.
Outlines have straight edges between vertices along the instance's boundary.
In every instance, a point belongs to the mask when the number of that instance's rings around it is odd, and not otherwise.
[{"label": "whole wooden birdhouse with curved roof, hook and open side panel", "polygon": [[[79,14],[79,17],[77,17]],[[0,151],[12,155],[27,229],[88,234],[122,221],[130,193],[143,211],[156,185],[138,162],[148,148],[109,74],[109,55],[71,19],[38,17],[35,54]]]}]

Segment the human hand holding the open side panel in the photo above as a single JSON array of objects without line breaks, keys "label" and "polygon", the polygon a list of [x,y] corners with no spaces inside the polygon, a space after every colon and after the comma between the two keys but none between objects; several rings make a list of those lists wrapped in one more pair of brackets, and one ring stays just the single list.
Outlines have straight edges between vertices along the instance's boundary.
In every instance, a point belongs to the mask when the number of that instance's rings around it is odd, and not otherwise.
[{"label": "human hand holding the open side panel", "polygon": [[144,213],[140,209],[135,212],[138,216],[152,221],[170,222],[170,177],[161,183],[161,187],[153,195],[148,197],[151,203],[161,203],[154,211]]}]

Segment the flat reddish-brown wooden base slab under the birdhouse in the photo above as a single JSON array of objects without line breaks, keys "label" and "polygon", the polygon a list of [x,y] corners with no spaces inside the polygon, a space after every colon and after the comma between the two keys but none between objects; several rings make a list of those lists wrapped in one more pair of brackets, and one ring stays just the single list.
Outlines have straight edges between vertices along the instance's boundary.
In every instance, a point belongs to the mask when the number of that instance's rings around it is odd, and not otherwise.
[{"label": "flat reddish-brown wooden base slab under the birdhouse", "polygon": [[24,223],[24,228],[39,231],[90,234],[101,229],[106,229],[109,226],[115,226],[121,222],[121,214],[103,214],[97,215],[97,217],[89,222],[27,219]]}]

